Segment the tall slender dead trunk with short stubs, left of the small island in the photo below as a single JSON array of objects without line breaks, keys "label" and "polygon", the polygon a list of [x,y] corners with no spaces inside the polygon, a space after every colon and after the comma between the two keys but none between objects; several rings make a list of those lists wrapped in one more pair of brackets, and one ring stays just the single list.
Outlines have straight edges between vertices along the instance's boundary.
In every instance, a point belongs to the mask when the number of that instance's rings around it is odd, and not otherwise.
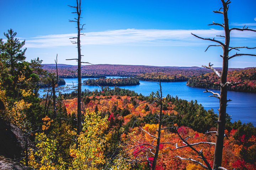
[{"label": "tall slender dead trunk with short stubs, left of the small island", "polygon": [[[77,60],[78,61],[78,111],[77,111],[77,131],[76,134],[79,135],[81,130],[82,130],[82,124],[81,124],[81,119],[82,119],[82,113],[81,113],[81,85],[82,85],[82,80],[81,80],[81,40],[80,40],[80,35],[81,30],[83,30],[84,25],[81,26],[80,24],[80,16],[81,16],[81,0],[76,0],[76,6],[70,6],[71,8],[75,8],[75,13],[77,15],[77,18],[74,18],[75,20],[69,20],[69,22],[76,22],[77,23],[77,32],[78,35],[77,37],[73,37],[70,39],[76,39],[76,41],[71,41],[73,44],[77,44],[77,49],[78,49],[78,58],[74,59],[66,59],[66,60]],[[76,148],[78,148],[78,141],[76,141]]]}]

